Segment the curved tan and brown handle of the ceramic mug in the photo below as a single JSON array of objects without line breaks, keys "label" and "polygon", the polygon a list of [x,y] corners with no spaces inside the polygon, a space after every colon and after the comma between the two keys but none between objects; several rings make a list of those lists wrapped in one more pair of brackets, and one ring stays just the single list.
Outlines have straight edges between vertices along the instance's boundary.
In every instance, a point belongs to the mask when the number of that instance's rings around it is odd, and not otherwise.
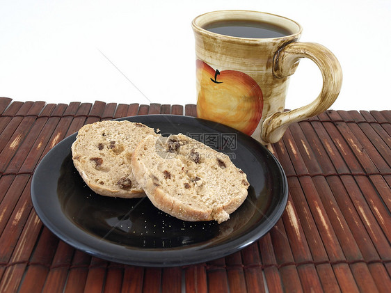
[{"label": "curved tan and brown handle of the ceramic mug", "polygon": [[273,113],[262,123],[262,141],[276,143],[293,122],[305,120],[326,111],[337,99],[342,86],[341,65],[326,47],[313,42],[290,42],[276,52],[273,74],[284,79],[294,73],[300,58],[310,58],[321,70],[323,86],[310,104],[286,112]]}]

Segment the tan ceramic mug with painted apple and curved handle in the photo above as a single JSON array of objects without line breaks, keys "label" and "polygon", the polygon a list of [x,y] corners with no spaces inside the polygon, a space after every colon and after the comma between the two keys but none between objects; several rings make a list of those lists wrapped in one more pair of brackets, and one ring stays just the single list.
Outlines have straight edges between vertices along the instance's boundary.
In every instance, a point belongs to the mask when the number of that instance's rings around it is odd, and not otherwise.
[{"label": "tan ceramic mug with painted apple and curved handle", "polygon": [[[280,30],[280,34],[248,38],[212,29],[253,24]],[[302,27],[291,19],[256,11],[222,10],[196,17],[192,26],[199,118],[234,127],[263,144],[275,143],[292,122],[326,111],[340,93],[342,70],[337,58],[322,45],[298,42]],[[310,58],[319,67],[321,93],[306,106],[284,111],[289,76],[300,58]]]}]

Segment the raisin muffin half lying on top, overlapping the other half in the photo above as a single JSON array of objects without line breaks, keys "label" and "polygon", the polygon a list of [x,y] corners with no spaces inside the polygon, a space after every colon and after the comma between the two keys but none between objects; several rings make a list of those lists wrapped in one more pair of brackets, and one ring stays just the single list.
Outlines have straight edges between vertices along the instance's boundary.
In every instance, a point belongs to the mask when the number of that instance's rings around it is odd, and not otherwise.
[{"label": "raisin muffin half lying on top, overlapping the other half", "polygon": [[227,155],[183,134],[147,136],[131,167],[153,205],[185,221],[226,221],[247,196],[247,176]]}]

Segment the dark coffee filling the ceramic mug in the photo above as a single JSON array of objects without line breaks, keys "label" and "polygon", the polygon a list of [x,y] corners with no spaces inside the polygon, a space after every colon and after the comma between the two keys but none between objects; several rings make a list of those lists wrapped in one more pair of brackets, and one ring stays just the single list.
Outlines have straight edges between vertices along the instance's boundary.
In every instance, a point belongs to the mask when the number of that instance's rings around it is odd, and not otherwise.
[{"label": "dark coffee filling the ceramic mug", "polygon": [[276,24],[247,20],[212,22],[206,24],[203,29],[219,35],[230,35],[238,38],[280,38],[292,34],[292,32]]}]

